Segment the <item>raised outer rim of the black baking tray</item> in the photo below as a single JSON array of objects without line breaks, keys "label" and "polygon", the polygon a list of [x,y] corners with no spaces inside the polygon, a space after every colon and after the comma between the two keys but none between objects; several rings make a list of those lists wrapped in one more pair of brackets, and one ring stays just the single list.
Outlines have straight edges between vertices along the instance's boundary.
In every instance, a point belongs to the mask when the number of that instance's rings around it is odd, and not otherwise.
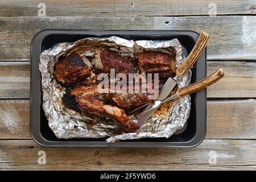
[{"label": "raised outer rim of the black baking tray", "polygon": [[[77,31],[77,32],[75,32]],[[199,34],[196,31],[192,31],[192,30],[82,30],[82,29],[43,29],[39,32],[37,32],[35,34],[35,36],[32,38],[31,40],[31,44],[30,44],[30,135],[32,137],[32,139],[34,139],[34,141],[36,143],[38,143],[40,146],[44,146],[44,147],[145,147],[145,148],[154,148],[154,147],[167,147],[167,148],[192,148],[195,147],[197,145],[199,145],[201,142],[203,142],[205,135],[207,133],[207,90],[204,89],[204,105],[205,105],[205,122],[204,122],[204,127],[201,127],[201,133],[199,136],[199,132],[196,131],[194,137],[191,140],[188,140],[187,142],[115,142],[115,143],[106,143],[106,142],[98,142],[98,141],[51,141],[51,140],[47,140],[45,138],[43,138],[42,134],[39,133],[35,133],[35,131],[32,129],[34,127],[34,125],[32,125],[32,106],[34,105],[33,101],[33,95],[32,95],[32,91],[33,91],[33,86],[32,86],[32,67],[33,67],[33,62],[32,62],[32,53],[34,52],[33,47],[35,44],[35,40],[39,37],[41,39],[40,43],[42,43],[42,40],[44,40],[44,38],[46,38],[46,36],[49,35],[53,35],[56,33],[61,33],[61,34],[76,34],[76,35],[80,35],[78,34],[78,32],[84,32],[84,35],[88,35],[88,34],[120,34],[121,32],[133,32],[134,34],[138,34],[138,35],[142,35],[142,34],[148,34],[151,35],[150,32],[155,33],[156,32],[158,34],[160,33],[164,33],[163,35],[167,35],[167,32],[175,32],[176,34],[180,34],[180,35],[184,35],[187,32],[187,36],[191,36],[192,39],[194,39],[196,41],[196,39],[198,38]],[[192,35],[188,35],[188,33],[192,34]],[[43,34],[40,35],[40,34]],[[125,34],[123,34],[125,35]],[[195,38],[196,37],[196,38]],[[40,47],[40,45],[37,45]],[[202,55],[200,57],[203,57],[205,60],[205,76],[207,75],[207,48],[205,48],[205,51],[202,53]],[[38,58],[39,59],[39,58]],[[200,59],[200,58],[199,58]],[[41,83],[40,83],[41,84]],[[196,123],[196,129],[198,129],[197,126],[198,123]],[[202,130],[203,129],[203,130]],[[202,133],[203,132],[203,133]],[[182,145],[182,144],[186,144],[186,145]]]}]

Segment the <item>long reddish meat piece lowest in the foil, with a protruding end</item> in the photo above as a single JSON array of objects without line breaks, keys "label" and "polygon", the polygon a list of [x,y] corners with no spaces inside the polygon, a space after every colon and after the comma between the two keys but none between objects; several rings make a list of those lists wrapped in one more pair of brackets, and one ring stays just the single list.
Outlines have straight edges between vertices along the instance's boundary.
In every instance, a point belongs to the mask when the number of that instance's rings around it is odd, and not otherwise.
[{"label": "long reddish meat piece lowest in the foil, with a protruding end", "polygon": [[104,102],[111,100],[111,98],[108,94],[98,93],[97,85],[78,86],[71,91],[71,95],[76,96],[75,100],[82,113],[112,118],[128,132],[135,132],[139,129],[139,125],[127,117],[123,109],[112,105],[105,105]]}]

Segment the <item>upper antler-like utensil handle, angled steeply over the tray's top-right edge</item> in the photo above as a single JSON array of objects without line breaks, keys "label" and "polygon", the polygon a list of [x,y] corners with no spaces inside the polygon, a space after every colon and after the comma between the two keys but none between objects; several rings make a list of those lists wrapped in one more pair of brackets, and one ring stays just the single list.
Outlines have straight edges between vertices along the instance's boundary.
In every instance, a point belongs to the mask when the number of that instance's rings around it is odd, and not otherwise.
[{"label": "upper antler-like utensil handle, angled steeply over the tray's top-right edge", "polygon": [[206,47],[209,41],[209,38],[210,38],[210,35],[207,34],[207,32],[204,32],[204,31],[201,32],[191,53],[189,53],[188,57],[176,69],[177,76],[179,77],[184,76],[189,71],[189,69],[193,67],[197,59],[199,59],[202,52],[204,51],[204,48]]}]

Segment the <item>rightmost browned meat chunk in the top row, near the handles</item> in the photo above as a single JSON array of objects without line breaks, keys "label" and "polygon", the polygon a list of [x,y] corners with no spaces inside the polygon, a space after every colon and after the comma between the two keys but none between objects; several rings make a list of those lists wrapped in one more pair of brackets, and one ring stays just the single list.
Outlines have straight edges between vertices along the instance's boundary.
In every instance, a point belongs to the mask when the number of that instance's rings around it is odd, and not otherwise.
[{"label": "rightmost browned meat chunk in the top row, near the handles", "polygon": [[139,68],[146,73],[159,73],[160,77],[171,77],[175,62],[163,52],[146,51],[138,54]]}]

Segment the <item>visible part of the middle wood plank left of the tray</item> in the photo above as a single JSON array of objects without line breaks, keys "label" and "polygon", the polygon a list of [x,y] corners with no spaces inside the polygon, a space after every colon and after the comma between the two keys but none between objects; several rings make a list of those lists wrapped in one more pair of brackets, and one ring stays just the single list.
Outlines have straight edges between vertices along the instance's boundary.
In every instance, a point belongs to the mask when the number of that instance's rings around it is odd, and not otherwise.
[{"label": "visible part of the middle wood plank left of the tray", "polygon": [[0,98],[30,97],[29,62],[0,63]]}]

